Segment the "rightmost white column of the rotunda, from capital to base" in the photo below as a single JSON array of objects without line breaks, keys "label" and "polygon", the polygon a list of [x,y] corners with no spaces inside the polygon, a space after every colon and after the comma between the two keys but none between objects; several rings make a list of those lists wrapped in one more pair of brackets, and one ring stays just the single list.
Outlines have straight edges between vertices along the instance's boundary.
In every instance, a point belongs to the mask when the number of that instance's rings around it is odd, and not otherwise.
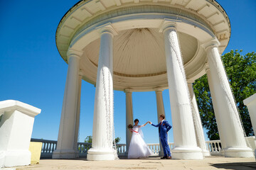
[{"label": "rightmost white column of the rotunda, from capital to base", "polygon": [[218,52],[218,40],[206,43],[206,52],[210,68],[210,79],[215,92],[215,104],[218,105],[220,128],[225,140],[225,157],[253,157],[252,149],[247,147],[242,124],[235,106],[227,75]]}]

